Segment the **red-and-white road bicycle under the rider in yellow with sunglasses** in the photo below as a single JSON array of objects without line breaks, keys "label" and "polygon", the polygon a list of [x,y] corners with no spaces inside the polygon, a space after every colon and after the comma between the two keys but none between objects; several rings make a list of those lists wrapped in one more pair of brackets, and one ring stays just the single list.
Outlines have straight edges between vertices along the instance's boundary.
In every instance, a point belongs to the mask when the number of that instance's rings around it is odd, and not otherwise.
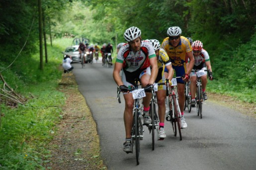
[{"label": "red-and-white road bicycle under the rider in yellow with sunglasses", "polygon": [[[166,115],[166,120],[171,122],[172,130],[174,132],[174,136],[177,135],[177,130],[179,133],[179,139],[182,140],[181,135],[181,126],[180,126],[180,119],[181,119],[181,112],[178,105],[178,95],[175,92],[176,86],[177,86],[177,80],[181,77],[176,77],[171,80],[171,87],[169,85],[169,80],[166,80],[167,88],[166,95],[167,97],[167,103],[169,108],[169,113]],[[177,90],[176,90],[177,91]]]}]

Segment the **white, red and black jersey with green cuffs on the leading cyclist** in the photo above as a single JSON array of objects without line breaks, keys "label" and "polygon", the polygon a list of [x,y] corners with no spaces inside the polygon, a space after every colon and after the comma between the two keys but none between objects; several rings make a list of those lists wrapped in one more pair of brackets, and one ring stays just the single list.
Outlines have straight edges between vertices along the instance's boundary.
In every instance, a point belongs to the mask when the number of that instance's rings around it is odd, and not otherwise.
[{"label": "white, red and black jersey with green cuffs on the leading cyclist", "polygon": [[153,57],[156,57],[156,53],[151,42],[142,41],[141,49],[136,52],[132,51],[127,43],[120,48],[116,62],[123,63],[124,70],[134,72],[150,67],[149,59]]}]

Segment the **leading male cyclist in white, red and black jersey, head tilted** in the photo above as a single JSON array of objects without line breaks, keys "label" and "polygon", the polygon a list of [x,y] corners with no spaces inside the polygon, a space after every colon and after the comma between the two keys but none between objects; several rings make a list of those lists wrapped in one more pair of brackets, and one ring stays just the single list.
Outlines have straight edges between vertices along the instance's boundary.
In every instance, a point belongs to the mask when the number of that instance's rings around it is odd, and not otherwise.
[{"label": "leading male cyclist in white, red and black jersey, head tilted", "polygon": [[[150,124],[149,116],[151,89],[157,74],[157,57],[150,42],[141,40],[141,30],[137,27],[130,27],[124,33],[124,38],[128,42],[123,45],[118,54],[113,71],[113,78],[121,88],[125,99],[124,126],[126,139],[123,146],[124,152],[131,152],[131,130],[133,124],[133,97],[127,88],[134,86],[134,80],[139,79],[142,87],[147,88],[144,103],[144,124]],[[152,68],[152,70],[150,69]],[[119,75],[122,70],[122,76]],[[150,93],[149,93],[150,92]]]}]

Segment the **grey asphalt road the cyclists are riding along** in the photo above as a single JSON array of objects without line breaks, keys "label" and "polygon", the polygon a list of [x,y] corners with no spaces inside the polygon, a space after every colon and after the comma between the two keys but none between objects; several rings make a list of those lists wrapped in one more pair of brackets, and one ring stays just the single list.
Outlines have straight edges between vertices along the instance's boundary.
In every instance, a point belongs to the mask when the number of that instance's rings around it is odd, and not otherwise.
[{"label": "grey asphalt road the cyclists are riding along", "polygon": [[73,66],[79,90],[97,124],[101,154],[108,170],[256,170],[256,119],[209,101],[203,104],[202,119],[196,108],[191,113],[185,111],[188,127],[182,129],[182,141],[166,122],[167,138],[156,141],[152,151],[152,138],[145,127],[137,166],[135,153],[122,150],[124,99],[121,96],[121,104],[116,100],[113,66]]}]

